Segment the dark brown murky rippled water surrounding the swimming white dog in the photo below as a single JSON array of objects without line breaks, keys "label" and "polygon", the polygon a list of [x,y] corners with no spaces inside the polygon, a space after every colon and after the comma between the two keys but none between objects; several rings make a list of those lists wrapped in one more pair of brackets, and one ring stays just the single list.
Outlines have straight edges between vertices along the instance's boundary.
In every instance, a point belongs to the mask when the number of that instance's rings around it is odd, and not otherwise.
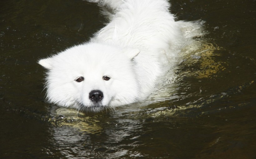
[{"label": "dark brown murky rippled water surrounding the swimming white dog", "polygon": [[106,22],[99,8],[0,1],[0,158],[256,158],[255,1],[171,3],[178,20],[206,21],[208,34],[165,97],[77,114],[44,102],[36,62],[88,40]]}]

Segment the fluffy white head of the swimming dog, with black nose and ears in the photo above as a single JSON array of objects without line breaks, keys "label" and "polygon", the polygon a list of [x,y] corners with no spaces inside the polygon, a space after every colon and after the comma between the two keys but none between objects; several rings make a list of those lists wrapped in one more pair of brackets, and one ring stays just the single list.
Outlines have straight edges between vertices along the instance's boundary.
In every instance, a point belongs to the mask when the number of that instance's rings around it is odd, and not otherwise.
[{"label": "fluffy white head of the swimming dog, with black nose and ears", "polygon": [[87,43],[40,60],[47,69],[47,100],[63,107],[100,111],[135,102],[133,58],[139,50]]}]

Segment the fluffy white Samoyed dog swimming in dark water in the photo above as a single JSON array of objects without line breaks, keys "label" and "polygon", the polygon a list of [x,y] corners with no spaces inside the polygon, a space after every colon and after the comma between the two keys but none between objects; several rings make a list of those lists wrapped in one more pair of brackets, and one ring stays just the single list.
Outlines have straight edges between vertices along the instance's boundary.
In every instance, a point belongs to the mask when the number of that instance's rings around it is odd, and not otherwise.
[{"label": "fluffy white Samoyed dog swimming in dark water", "polygon": [[192,23],[175,21],[167,0],[88,1],[105,8],[109,23],[89,42],[38,61],[47,69],[47,100],[79,111],[144,100]]}]

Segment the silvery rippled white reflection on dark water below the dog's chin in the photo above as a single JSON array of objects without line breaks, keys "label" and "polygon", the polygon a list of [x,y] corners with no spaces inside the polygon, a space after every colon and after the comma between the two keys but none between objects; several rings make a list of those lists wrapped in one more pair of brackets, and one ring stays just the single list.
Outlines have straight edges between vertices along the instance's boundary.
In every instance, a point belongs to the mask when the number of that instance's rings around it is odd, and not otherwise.
[{"label": "silvery rippled white reflection on dark water below the dog's chin", "polygon": [[[140,153],[132,149],[141,145],[136,141],[140,135],[131,137],[131,134],[140,129],[141,125],[138,122],[123,120],[115,125],[105,127],[104,136],[106,138],[97,139],[100,137],[97,136],[99,134],[91,136],[72,127],[62,126],[52,130],[52,139],[55,146],[66,157],[139,157]],[[126,141],[127,139],[129,141]]]}]

